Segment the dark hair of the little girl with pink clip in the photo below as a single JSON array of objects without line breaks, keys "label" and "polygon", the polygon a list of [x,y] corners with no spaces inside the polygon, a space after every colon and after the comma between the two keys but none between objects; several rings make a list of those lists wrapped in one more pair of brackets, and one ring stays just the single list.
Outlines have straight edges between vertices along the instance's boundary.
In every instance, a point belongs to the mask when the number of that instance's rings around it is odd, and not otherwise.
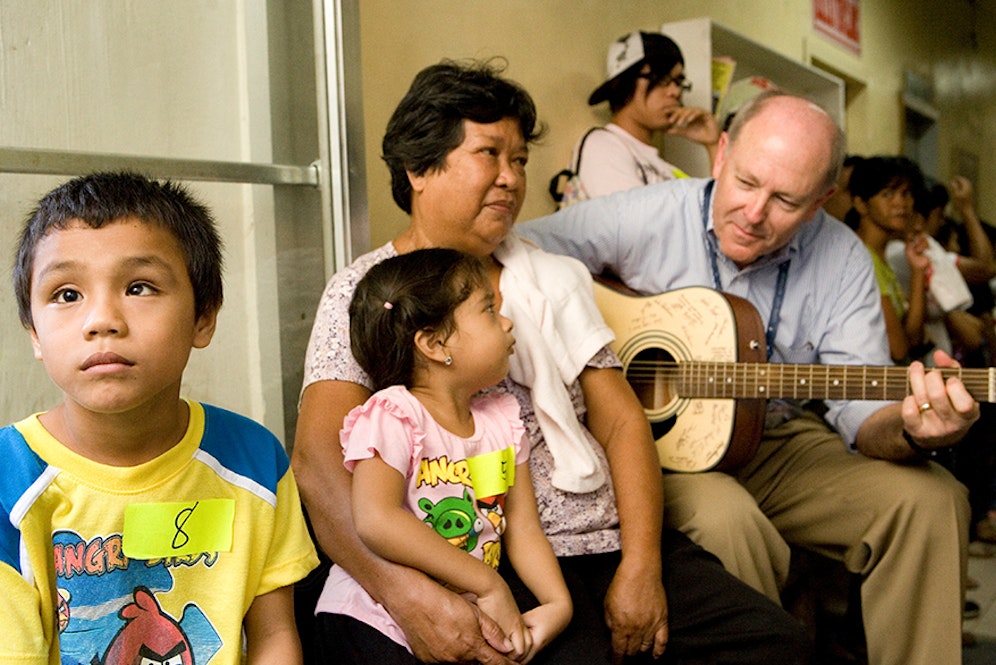
[{"label": "dark hair of the little girl with pink clip", "polygon": [[455,249],[418,249],[371,268],[349,303],[349,339],[374,390],[410,388],[419,362],[415,333],[448,337],[457,307],[487,285],[484,263]]}]

